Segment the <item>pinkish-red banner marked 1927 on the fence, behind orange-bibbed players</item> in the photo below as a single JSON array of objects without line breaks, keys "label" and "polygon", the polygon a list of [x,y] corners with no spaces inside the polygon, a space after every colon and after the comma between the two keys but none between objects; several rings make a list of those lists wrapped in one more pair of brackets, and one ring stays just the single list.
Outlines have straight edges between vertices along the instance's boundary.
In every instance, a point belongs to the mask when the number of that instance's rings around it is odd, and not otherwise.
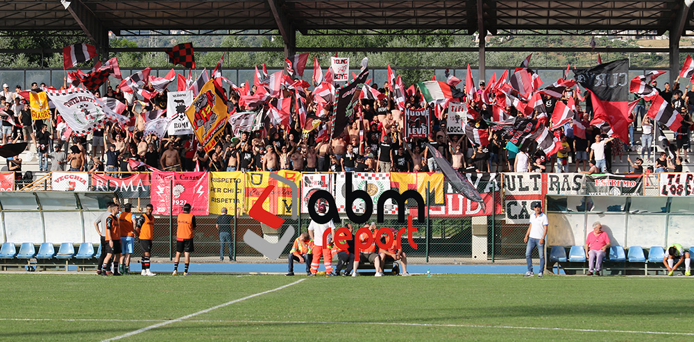
[{"label": "pinkish-red banner marked 1927 on the fence, behind orange-bibbed players", "polygon": [[[171,188],[173,180],[173,188]],[[210,206],[210,173],[208,172],[153,172],[151,203],[154,214],[178,215],[183,205],[192,206],[194,215],[207,215]],[[171,198],[173,195],[173,198]],[[171,207],[173,202],[174,207]]]}]

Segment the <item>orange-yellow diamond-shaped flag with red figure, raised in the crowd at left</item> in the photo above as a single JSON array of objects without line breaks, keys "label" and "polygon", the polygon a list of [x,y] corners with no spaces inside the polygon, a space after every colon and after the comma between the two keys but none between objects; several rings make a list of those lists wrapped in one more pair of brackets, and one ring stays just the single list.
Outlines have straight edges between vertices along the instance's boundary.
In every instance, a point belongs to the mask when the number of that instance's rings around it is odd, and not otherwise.
[{"label": "orange-yellow diamond-shaped flag with red figure, raised in the crowd at left", "polygon": [[203,145],[205,152],[212,151],[217,145],[219,136],[223,132],[224,124],[229,116],[226,112],[226,103],[223,101],[223,94],[214,86],[214,80],[209,80],[200,89],[200,94],[195,98],[193,104],[185,111],[195,136]]}]

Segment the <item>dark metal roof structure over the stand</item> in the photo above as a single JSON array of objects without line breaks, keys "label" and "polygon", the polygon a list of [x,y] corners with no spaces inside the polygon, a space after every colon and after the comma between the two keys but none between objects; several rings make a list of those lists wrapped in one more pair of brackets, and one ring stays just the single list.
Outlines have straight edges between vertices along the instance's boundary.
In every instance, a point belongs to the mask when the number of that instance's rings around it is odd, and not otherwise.
[{"label": "dark metal roof structure over the stand", "polygon": [[[82,30],[108,49],[116,35],[280,33],[285,54],[302,35],[663,35],[671,55],[694,35],[692,0],[2,0],[0,31]],[[480,40],[484,65],[484,40]],[[527,46],[527,48],[532,46]],[[330,48],[333,48],[332,46]],[[671,63],[672,65],[672,56]],[[678,63],[675,63],[678,64]]]}]

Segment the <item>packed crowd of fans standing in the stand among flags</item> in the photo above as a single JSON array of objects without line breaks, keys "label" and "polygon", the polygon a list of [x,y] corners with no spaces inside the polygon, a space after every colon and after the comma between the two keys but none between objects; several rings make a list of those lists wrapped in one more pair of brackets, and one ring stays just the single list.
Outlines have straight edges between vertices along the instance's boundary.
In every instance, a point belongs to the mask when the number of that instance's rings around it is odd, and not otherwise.
[{"label": "packed crowd of fans standing in the stand among flags", "polygon": [[[484,83],[480,85],[484,87]],[[652,85],[657,87],[657,81],[654,80]],[[688,162],[687,153],[691,151],[691,128],[694,127],[694,122],[690,111],[694,108],[694,89],[688,89],[687,86],[684,93],[678,89],[677,83],[675,87],[666,83],[663,90],[658,89],[663,99],[670,101],[684,117],[682,128],[675,132],[673,145],[677,146],[677,155],[674,158],[661,156],[653,164],[649,162],[656,144],[653,132],[662,127],[654,126],[654,122],[645,115],[648,103],[643,99],[632,112],[634,121],[629,126],[630,142],[623,144],[620,139],[607,139],[605,128],[591,126],[590,105],[585,108],[586,105],[579,101],[577,89],[566,89],[561,99],[544,96],[548,113],[552,113],[557,101],[566,103],[573,97],[586,128],[586,139],[582,139],[573,134],[571,122],[566,123],[559,128],[561,150],[556,155],[546,156],[543,153],[533,153],[533,148],[530,151],[518,151],[502,135],[491,130],[491,108],[478,103],[470,105],[480,115],[468,118],[467,124],[477,129],[487,129],[489,145],[473,144],[466,135],[446,134],[447,110],[443,110],[439,119],[434,115],[436,110],[433,105],[428,137],[404,137],[403,112],[398,110],[389,87],[372,87],[385,94],[386,98],[359,100],[349,125],[337,138],[319,135],[319,130],[326,129],[325,126],[330,131],[332,106],[325,105],[323,112],[316,112],[319,110],[316,103],[310,101],[307,116],[323,121],[316,128],[307,130],[302,127],[296,110],[292,108],[293,114],[287,126],[269,123],[260,130],[240,132],[239,136],[235,136],[234,130],[227,123],[221,142],[214,150],[205,153],[194,135],[167,135],[162,139],[155,135],[144,135],[143,114],[149,110],[165,109],[167,92],[146,101],[145,108],[138,108],[137,105],[127,103],[126,96],[119,87],[108,86],[103,97],[128,104],[123,114],[135,117],[133,126],[121,127],[106,123],[103,129],[88,136],[66,137],[68,128],[57,110],[52,110],[51,119],[32,120],[27,101],[18,95],[22,87],[17,85],[15,92],[12,92],[4,84],[0,93],[1,108],[6,113],[2,116],[2,142],[30,142],[28,148],[39,155],[41,171],[105,171],[112,176],[124,176],[152,168],[169,171],[437,171],[438,166],[426,143],[437,148],[461,172],[600,173],[615,171],[612,163],[624,162],[626,159],[632,172],[642,173],[648,171],[644,170],[645,166],[656,172],[682,171],[682,163]],[[31,88],[36,91],[41,89],[37,83],[32,83]],[[229,89],[229,94],[230,112],[248,110],[239,105],[239,96],[232,89]],[[99,92],[95,95],[102,97]],[[307,96],[310,98],[312,94],[308,92]],[[458,100],[466,101],[464,97]],[[426,105],[428,104],[423,101],[418,90],[407,94],[407,108],[422,108]],[[262,103],[255,110],[264,113],[267,108],[266,103]],[[511,116],[523,116],[523,113],[513,107],[506,110]],[[636,132],[642,133],[640,142],[634,141]],[[635,151],[634,162],[629,151]],[[9,158],[8,169],[21,171],[21,159]],[[626,169],[620,167],[619,171],[625,173]]]}]

